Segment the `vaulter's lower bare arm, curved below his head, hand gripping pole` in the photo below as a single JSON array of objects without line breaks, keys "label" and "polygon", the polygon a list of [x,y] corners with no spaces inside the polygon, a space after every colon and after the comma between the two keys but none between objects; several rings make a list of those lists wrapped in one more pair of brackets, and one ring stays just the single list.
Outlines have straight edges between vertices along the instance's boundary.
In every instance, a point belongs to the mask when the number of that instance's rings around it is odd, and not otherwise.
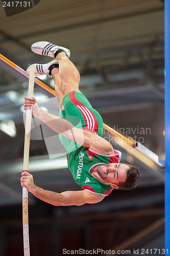
[{"label": "vaulter's lower bare arm, curved below his head, hand gripping pole", "polygon": [[27,172],[22,173],[21,186],[26,187],[35,197],[55,206],[94,204],[102,201],[105,196],[96,195],[87,190],[65,191],[56,193],[44,190],[34,184],[33,176]]}]

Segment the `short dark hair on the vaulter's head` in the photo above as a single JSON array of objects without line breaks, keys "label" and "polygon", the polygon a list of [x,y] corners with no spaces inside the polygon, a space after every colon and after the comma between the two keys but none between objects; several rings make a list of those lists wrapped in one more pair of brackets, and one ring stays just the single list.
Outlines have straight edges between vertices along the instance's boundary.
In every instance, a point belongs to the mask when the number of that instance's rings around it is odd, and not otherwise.
[{"label": "short dark hair on the vaulter's head", "polygon": [[117,185],[119,189],[131,190],[136,187],[139,181],[139,168],[130,164],[127,165],[129,166],[129,169],[127,170],[127,179],[125,182],[119,182]]}]

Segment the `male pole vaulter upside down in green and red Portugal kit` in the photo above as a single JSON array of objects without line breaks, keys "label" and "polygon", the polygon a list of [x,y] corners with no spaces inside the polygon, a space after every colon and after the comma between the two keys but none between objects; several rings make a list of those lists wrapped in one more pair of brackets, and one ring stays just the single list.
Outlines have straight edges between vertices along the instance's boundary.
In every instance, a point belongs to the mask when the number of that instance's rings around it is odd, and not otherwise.
[{"label": "male pole vaulter upside down in green and red Portugal kit", "polygon": [[53,77],[61,112],[58,117],[39,109],[34,97],[25,97],[24,110],[32,107],[36,118],[60,134],[67,151],[68,168],[83,190],[63,193],[44,190],[34,184],[33,176],[27,172],[22,173],[21,186],[35,197],[56,206],[98,203],[113,188],[133,189],[139,180],[139,170],[119,163],[121,153],[101,137],[102,117],[79,91],[80,74],[69,60],[70,51],[46,41],[36,42],[31,49],[37,54],[53,57],[44,65],[34,64],[35,75]]}]

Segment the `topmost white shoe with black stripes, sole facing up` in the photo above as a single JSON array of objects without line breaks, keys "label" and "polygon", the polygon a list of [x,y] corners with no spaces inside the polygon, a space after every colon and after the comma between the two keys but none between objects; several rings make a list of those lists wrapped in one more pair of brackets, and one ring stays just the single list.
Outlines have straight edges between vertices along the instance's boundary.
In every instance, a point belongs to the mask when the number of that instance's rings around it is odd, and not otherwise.
[{"label": "topmost white shoe with black stripes, sole facing up", "polygon": [[31,46],[31,50],[37,54],[40,55],[44,55],[44,56],[49,56],[52,58],[55,58],[54,54],[58,51],[58,50],[63,50],[67,57],[69,58],[70,56],[70,50],[67,48],[64,48],[62,46],[56,46],[51,44],[51,42],[46,42],[46,41],[39,41],[39,42],[35,42],[32,46]]}]

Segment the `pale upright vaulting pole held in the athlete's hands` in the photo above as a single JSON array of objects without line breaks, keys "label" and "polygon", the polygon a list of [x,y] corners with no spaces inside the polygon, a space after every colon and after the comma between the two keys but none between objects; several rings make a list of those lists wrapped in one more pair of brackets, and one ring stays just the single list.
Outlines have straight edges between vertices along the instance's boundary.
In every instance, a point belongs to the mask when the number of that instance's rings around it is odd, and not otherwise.
[{"label": "pale upright vaulting pole held in the athlete's hands", "polygon": [[[28,97],[33,96],[34,92],[34,66],[30,69]],[[25,124],[25,143],[23,152],[23,172],[29,172],[29,151],[30,151],[30,133],[31,133],[32,108],[26,112]],[[28,190],[22,187],[22,224],[23,224],[23,249],[24,256],[30,256],[29,245],[29,216],[28,216]]]}]

